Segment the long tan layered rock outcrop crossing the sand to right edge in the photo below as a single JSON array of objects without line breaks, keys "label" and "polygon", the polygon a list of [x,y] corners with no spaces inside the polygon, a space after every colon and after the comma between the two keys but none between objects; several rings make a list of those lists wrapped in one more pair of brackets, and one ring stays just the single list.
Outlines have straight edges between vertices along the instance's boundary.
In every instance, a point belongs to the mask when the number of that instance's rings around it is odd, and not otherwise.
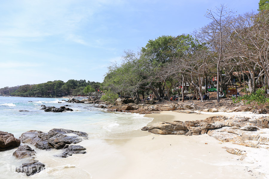
[{"label": "long tan layered rock outcrop crossing the sand to right edge", "polygon": [[269,118],[227,118],[213,116],[205,120],[174,121],[143,127],[154,134],[201,135],[208,134],[222,142],[269,149]]}]

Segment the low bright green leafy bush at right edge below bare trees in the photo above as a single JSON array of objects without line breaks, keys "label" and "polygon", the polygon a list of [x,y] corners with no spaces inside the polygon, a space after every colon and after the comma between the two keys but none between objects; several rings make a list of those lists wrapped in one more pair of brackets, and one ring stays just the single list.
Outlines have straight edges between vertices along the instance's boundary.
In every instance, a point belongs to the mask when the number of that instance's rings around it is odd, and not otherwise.
[{"label": "low bright green leafy bush at right edge below bare trees", "polygon": [[239,103],[241,101],[244,104],[251,104],[251,102],[255,101],[258,105],[262,105],[269,102],[269,98],[265,96],[265,90],[260,88],[255,93],[251,93],[250,95],[239,96],[237,99],[232,97],[233,103]]}]

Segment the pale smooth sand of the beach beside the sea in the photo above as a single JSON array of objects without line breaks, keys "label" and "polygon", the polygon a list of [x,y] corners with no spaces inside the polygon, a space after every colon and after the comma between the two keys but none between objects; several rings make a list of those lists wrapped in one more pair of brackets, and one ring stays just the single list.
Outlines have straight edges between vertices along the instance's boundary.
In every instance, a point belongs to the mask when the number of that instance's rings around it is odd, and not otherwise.
[{"label": "pale smooth sand of the beach beside the sea", "polygon": [[[155,123],[201,120],[213,115],[167,111],[145,116],[154,117],[151,123]],[[87,154],[80,155],[79,167],[91,173],[94,179],[239,179],[269,176],[267,149],[222,143],[208,135],[155,135],[141,130],[137,130],[137,135],[141,137],[83,141],[80,145],[87,148]],[[247,157],[243,161],[238,160],[240,156],[230,154],[222,147],[245,150]]]}]

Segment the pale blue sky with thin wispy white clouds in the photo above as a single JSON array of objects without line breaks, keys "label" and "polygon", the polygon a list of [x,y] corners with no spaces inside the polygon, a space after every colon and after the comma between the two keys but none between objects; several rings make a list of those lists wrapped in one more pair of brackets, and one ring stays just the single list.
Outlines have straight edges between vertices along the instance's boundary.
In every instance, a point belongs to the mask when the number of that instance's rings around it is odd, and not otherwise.
[{"label": "pale blue sky with thin wispy white clouds", "polygon": [[178,36],[210,22],[207,9],[227,4],[246,13],[259,0],[0,1],[0,88],[47,81],[102,82],[124,50]]}]

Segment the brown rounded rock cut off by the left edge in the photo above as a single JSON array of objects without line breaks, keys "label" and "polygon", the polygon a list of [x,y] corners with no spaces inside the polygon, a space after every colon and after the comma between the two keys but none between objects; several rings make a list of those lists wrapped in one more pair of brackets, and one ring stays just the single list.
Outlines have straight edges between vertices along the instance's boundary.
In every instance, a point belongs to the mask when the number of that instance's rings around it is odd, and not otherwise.
[{"label": "brown rounded rock cut off by the left edge", "polygon": [[20,144],[21,141],[15,138],[13,134],[0,131],[0,151],[13,149],[18,147]]}]

